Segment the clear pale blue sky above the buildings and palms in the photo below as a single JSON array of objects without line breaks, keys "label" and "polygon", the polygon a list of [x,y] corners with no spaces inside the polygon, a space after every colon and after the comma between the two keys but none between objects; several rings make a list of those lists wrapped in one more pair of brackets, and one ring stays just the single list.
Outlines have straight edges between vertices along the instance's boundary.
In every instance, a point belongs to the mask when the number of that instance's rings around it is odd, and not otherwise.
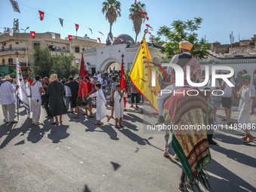
[{"label": "clear pale blue sky above the buildings and palms", "polygon": [[[0,32],[4,32],[4,27],[12,28],[15,18],[20,21],[20,29],[29,26],[28,32],[55,32],[59,33],[61,38],[66,38],[68,35],[76,35],[75,23],[77,23],[78,36],[87,34],[90,38],[101,38],[102,42],[107,38],[110,25],[102,14],[103,0],[17,0],[16,2],[19,3],[20,13],[13,11],[9,0],[0,0]],[[135,40],[133,22],[129,20],[129,8],[135,1],[119,2],[121,17],[117,17],[117,21],[113,24],[112,34],[114,36],[127,34]],[[149,20],[146,20],[145,24],[153,27],[152,35],[156,35],[160,26],[170,27],[173,20],[193,20],[194,17],[203,18],[201,28],[197,31],[198,38],[205,38],[206,35],[209,43],[219,41],[221,44],[230,44],[231,32],[235,42],[239,41],[239,35],[240,40],[248,40],[256,34],[255,0],[142,0],[141,2],[146,5]],[[42,21],[38,10],[45,13]],[[64,20],[63,27],[58,18]],[[142,39],[145,24],[142,23],[138,41]],[[87,28],[93,29],[93,34]]]}]

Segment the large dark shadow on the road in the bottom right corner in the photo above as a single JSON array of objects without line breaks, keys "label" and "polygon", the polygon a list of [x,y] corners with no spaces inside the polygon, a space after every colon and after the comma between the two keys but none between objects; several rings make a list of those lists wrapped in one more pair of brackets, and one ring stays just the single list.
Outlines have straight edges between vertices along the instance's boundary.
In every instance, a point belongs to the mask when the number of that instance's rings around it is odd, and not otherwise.
[{"label": "large dark shadow on the road in the bottom right corner", "polygon": [[[248,184],[243,178],[240,178],[213,159],[211,163],[206,166],[206,170],[216,175],[209,176],[209,183],[213,191],[255,191],[255,187],[251,186],[251,184]],[[248,179],[246,175],[245,178]]]}]

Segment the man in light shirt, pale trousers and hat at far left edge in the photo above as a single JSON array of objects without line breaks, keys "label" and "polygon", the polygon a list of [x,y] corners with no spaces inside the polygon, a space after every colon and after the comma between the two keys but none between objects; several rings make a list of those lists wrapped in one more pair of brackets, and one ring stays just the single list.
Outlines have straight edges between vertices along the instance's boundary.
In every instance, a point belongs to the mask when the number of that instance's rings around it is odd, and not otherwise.
[{"label": "man in light shirt, pale trousers and hat at far left edge", "polygon": [[17,123],[14,120],[15,116],[15,101],[16,97],[14,95],[15,91],[19,88],[17,85],[14,87],[11,84],[11,77],[10,75],[5,76],[5,83],[3,83],[0,87],[0,97],[1,97],[1,105],[3,114],[5,117],[5,123]]}]

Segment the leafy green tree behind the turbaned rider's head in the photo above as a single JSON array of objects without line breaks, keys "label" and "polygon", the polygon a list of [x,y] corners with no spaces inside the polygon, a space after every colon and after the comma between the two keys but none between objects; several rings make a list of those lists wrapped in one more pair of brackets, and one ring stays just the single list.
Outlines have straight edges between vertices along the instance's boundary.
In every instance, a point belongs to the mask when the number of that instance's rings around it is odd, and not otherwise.
[{"label": "leafy green tree behind the turbaned rider's head", "polygon": [[201,17],[194,17],[194,20],[174,20],[171,24],[172,30],[169,32],[166,47],[161,51],[166,53],[166,59],[171,59],[175,54],[180,53],[179,43],[181,41],[190,41],[194,44],[193,48],[190,50],[192,56],[197,59],[202,59],[208,53],[209,43],[203,38],[199,40],[198,34],[195,32],[200,29],[200,24],[203,22]]}]

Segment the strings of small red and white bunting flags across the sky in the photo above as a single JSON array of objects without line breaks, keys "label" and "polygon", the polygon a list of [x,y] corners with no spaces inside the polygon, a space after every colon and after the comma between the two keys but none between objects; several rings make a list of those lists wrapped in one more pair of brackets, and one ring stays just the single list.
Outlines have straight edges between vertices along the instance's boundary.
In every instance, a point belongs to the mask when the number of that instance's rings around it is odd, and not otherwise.
[{"label": "strings of small red and white bunting flags across the sky", "polygon": [[[10,2],[11,2],[11,5],[12,5],[12,8],[13,8],[13,10],[14,10],[14,12],[19,12],[20,13],[20,7],[19,7],[19,3],[18,2],[16,2],[16,1],[14,1],[14,0],[10,0]],[[136,2],[136,0],[135,0],[135,2]],[[21,5],[24,5],[24,4],[22,4],[22,3],[20,3]],[[137,5],[139,5],[139,3],[137,3],[136,2],[136,4]],[[28,5],[24,5],[24,6],[26,6],[26,7],[28,7],[28,8],[31,8],[31,7],[29,7]],[[146,20],[148,20],[148,16],[145,14],[145,10],[144,10],[144,8],[142,8],[142,6],[141,5],[139,5],[139,8],[141,9],[141,13],[145,16],[145,19]],[[32,8],[32,9],[35,9],[35,8]],[[35,10],[37,10],[37,9],[35,9]],[[39,11],[39,10],[37,10],[38,11],[38,13],[39,13],[39,18],[40,18],[40,20],[44,20],[44,15],[46,14],[44,11]],[[50,16],[52,16],[52,17],[56,17],[56,16],[54,16],[54,15],[52,15],[52,14],[48,14],[48,15],[50,15]],[[62,18],[60,18],[60,17],[57,17],[57,18],[59,18],[59,23],[60,23],[60,25],[63,27],[63,19]],[[69,23],[73,23],[73,22],[71,22],[71,21],[68,21],[68,20],[66,20],[67,22],[69,22]],[[145,20],[144,20],[144,22],[145,22]],[[144,23],[143,22],[143,23]],[[77,23],[74,23],[75,24],[75,31],[76,32],[78,32],[78,29],[79,29],[79,25],[77,24]],[[148,24],[146,24],[146,26],[147,26],[147,28],[149,29],[149,30],[154,30],[151,26],[149,26]],[[83,27],[85,27],[85,28],[87,28],[87,29],[89,29],[90,30],[90,32],[91,32],[91,34],[93,34],[93,31],[96,31],[96,32],[99,32],[99,31],[97,31],[97,30],[93,30],[93,29],[91,29],[91,28],[88,28],[88,27],[86,27],[86,26],[83,26]],[[104,35],[102,32],[99,32],[101,35]],[[30,32],[30,34],[32,35],[32,38],[35,38],[35,32]],[[149,32],[149,34],[151,35],[151,33]],[[13,29],[10,29],[9,30],[9,35],[13,35]],[[55,34],[54,33],[51,33],[51,35],[52,35],[52,38],[56,38],[55,37]],[[151,35],[152,37],[154,37],[153,35]],[[69,37],[69,41],[72,41],[72,35],[68,35],[68,37]],[[101,43],[101,39],[100,38],[97,38],[98,40],[99,40],[99,43]],[[113,41],[120,41],[120,43],[121,44],[123,44],[123,42],[125,42],[126,44],[128,44],[127,43],[127,41],[126,40],[124,40],[123,41],[123,39],[121,39],[121,38],[116,38],[116,37],[114,37],[114,39],[111,39],[111,37],[108,35],[108,39],[109,39],[109,41],[111,41],[111,43],[113,42]],[[129,41],[130,42],[130,44],[136,44],[135,42],[132,42],[132,41]],[[153,40],[151,40],[151,42],[152,42],[152,44],[153,44]],[[140,42],[138,42],[138,44],[140,44]]]}]

